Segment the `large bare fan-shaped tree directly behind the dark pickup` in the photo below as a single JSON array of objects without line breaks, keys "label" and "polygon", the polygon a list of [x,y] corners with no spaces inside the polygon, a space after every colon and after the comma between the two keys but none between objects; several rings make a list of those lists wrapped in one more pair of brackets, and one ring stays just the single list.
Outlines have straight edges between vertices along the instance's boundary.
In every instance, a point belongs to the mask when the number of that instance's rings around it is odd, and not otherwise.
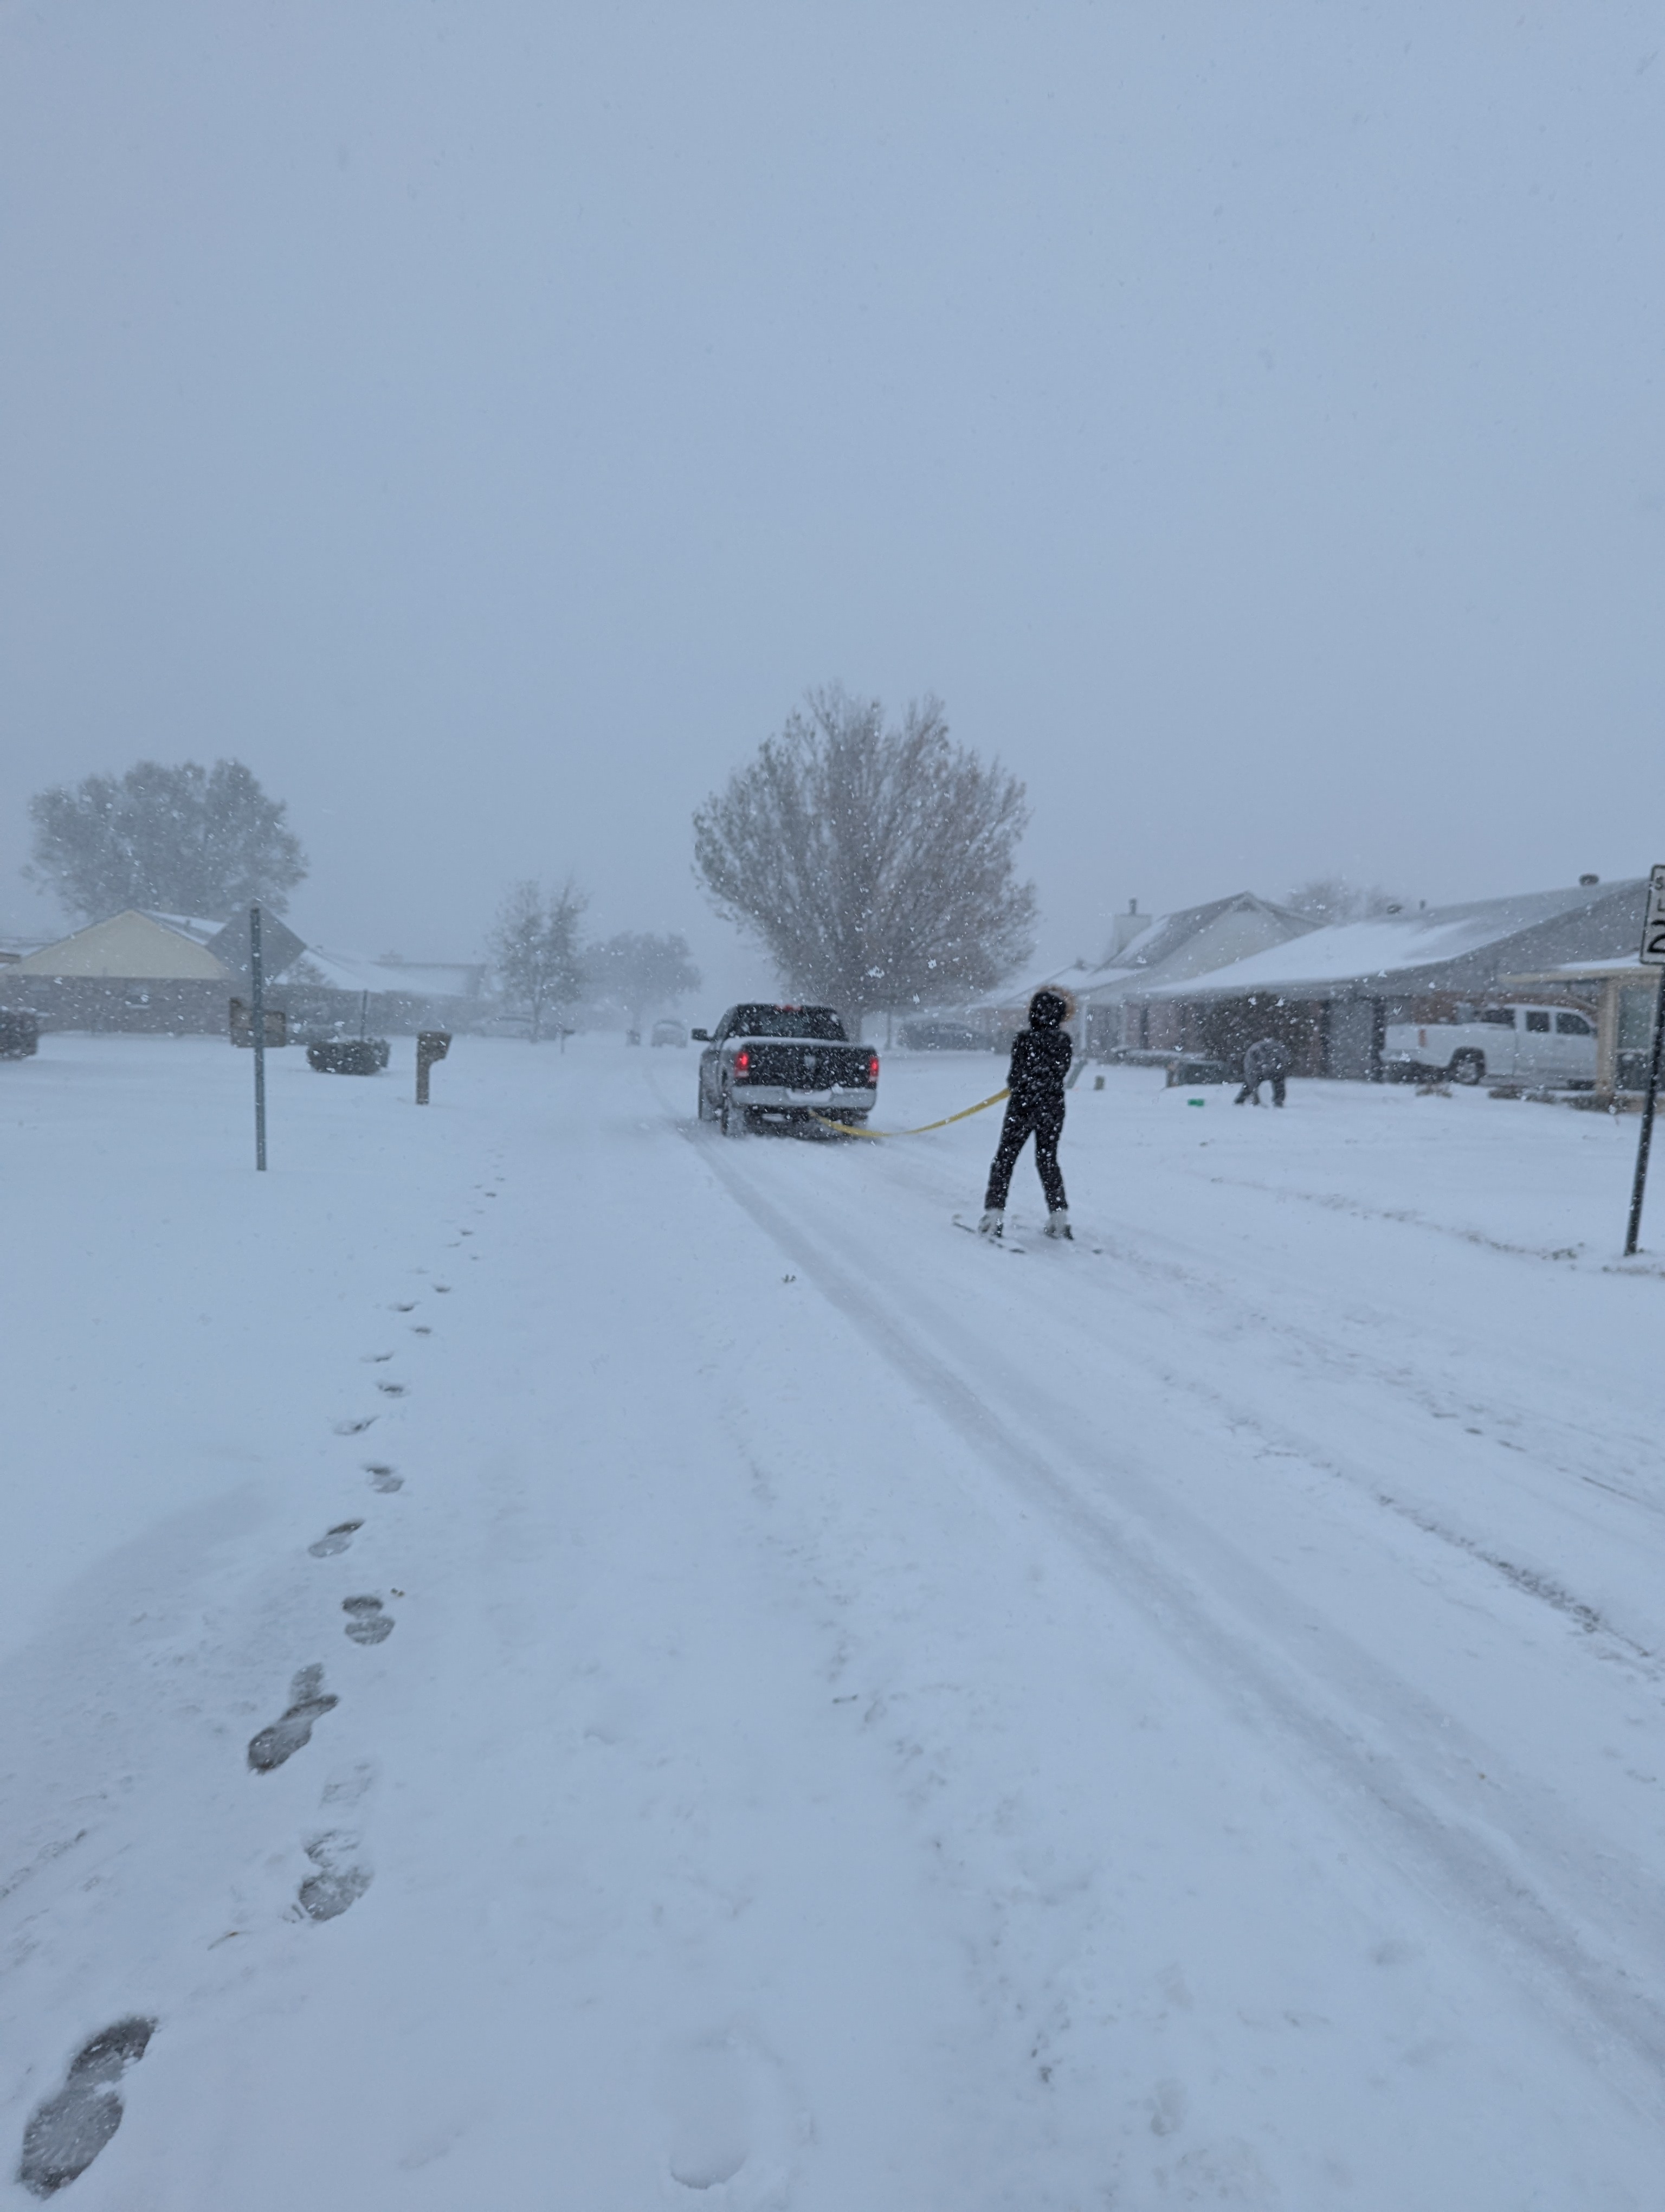
[{"label": "large bare fan-shaped tree directly behind the dark pickup", "polygon": [[1033,951],[1024,785],[951,745],[938,699],[889,730],[840,686],[807,708],[694,814],[712,905],[851,1022],[986,991]]}]

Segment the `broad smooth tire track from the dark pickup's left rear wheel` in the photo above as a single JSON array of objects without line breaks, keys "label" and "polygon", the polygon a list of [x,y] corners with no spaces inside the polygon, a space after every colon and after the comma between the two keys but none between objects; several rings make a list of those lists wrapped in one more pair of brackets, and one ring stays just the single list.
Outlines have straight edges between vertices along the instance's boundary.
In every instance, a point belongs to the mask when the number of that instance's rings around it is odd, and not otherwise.
[{"label": "broad smooth tire track from the dark pickup's left rear wheel", "polygon": [[[1665,1982],[1665,1958],[1658,1885],[1643,1867],[1579,1832],[1530,1778],[1506,1776],[1488,1745],[1313,1619],[1068,1409],[1024,1389],[1004,1356],[918,1283],[904,1285],[904,1312],[876,1292],[871,1250],[858,1279],[811,1228],[763,1197],[736,1159],[688,1124],[681,1135],[701,1144],[752,1221],[1002,1480],[1044,1509],[1167,1644],[1187,1650],[1252,1728],[1280,1736],[1391,1863],[1484,1931],[1608,2077],[1621,2062],[1636,2106],[1665,2115],[1665,2008],[1650,1995]],[[997,1396],[1022,1407],[1022,1427],[997,1409]],[[1097,1484],[1097,1495],[1066,1469]]]}]

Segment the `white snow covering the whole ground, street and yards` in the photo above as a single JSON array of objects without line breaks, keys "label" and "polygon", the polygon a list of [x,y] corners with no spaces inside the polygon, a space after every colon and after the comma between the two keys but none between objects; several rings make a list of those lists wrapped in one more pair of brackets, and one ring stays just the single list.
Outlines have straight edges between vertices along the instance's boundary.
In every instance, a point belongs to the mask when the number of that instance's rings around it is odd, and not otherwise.
[{"label": "white snow covering the whole ground, street and yards", "polygon": [[75,2212],[1661,2203],[1634,1121],[1112,1071],[995,1252],[993,1115],[248,1086],[0,1066],[0,2205],[130,2015]]}]

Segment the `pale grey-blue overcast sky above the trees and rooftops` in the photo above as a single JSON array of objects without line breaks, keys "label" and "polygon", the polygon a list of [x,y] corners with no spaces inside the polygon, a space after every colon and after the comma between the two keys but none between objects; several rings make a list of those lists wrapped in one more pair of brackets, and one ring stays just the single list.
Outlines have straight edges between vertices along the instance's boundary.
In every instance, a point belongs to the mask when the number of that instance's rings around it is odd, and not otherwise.
[{"label": "pale grey-blue overcast sky above the trees and rooftops", "polygon": [[688,816],[805,686],[1028,783],[1041,951],[1665,858],[1665,9],[0,0],[27,799],[234,754],[325,945]]}]

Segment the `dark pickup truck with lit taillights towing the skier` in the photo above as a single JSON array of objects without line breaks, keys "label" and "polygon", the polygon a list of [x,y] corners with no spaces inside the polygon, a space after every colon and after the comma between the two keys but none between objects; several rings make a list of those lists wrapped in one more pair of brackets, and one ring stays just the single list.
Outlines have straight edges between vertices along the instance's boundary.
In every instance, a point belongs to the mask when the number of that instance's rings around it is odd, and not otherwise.
[{"label": "dark pickup truck with lit taillights towing the skier", "polygon": [[769,1121],[789,1126],[825,1115],[856,1128],[873,1110],[878,1053],[851,1044],[836,1006],[730,1006],[716,1029],[694,1037],[699,1119],[725,1137]]}]

